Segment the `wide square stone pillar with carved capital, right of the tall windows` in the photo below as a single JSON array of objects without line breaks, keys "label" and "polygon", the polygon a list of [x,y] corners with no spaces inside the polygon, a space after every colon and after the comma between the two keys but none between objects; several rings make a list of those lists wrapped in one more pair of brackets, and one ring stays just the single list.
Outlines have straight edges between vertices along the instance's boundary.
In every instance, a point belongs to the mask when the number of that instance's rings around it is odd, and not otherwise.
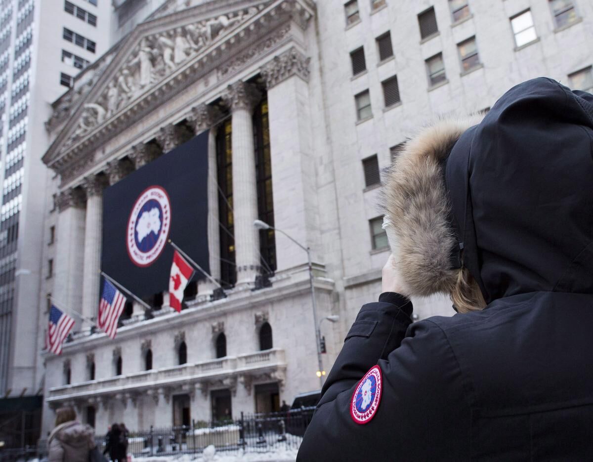
[{"label": "wide square stone pillar with carved capital, right of the tall windows", "polygon": [[[275,226],[312,250],[319,214],[308,85],[309,58],[291,47],[262,68],[267,86]],[[314,98],[313,98],[314,99]],[[307,263],[307,254],[276,233],[278,272]]]}]

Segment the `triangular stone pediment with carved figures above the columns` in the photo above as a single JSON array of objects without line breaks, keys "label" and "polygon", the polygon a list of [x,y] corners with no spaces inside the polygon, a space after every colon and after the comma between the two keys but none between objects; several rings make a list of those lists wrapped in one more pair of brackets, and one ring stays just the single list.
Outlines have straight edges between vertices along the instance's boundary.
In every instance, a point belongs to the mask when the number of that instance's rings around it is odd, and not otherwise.
[{"label": "triangular stone pediment with carved figures above the columns", "polygon": [[276,28],[287,17],[298,17],[304,27],[314,8],[310,0],[213,0],[181,8],[191,3],[165,3],[85,72],[84,84],[56,102],[47,127],[59,133],[44,163],[62,171],[79,152],[90,151],[200,75],[225,72],[225,60],[242,53],[266,27]]}]

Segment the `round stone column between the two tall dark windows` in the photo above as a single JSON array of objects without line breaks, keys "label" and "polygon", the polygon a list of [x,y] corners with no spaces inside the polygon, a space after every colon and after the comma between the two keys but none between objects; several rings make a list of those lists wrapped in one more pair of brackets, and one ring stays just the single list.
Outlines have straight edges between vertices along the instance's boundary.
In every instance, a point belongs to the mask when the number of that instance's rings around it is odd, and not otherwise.
[{"label": "round stone column between the two tall dark windows", "polygon": [[232,208],[235,235],[237,286],[253,284],[259,273],[259,233],[257,219],[256,160],[251,113],[261,98],[250,84],[229,85],[223,99],[232,110]]}]

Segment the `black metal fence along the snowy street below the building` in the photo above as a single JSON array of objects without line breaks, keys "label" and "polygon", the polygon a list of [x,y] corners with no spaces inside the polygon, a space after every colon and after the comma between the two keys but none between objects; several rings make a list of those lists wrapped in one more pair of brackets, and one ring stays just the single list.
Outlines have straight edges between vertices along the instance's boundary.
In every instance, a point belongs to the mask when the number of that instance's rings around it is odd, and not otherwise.
[{"label": "black metal fence along the snowy street below the building", "polygon": [[[287,412],[266,414],[241,413],[238,419],[222,422],[193,421],[192,425],[154,428],[130,432],[127,453],[134,457],[153,455],[201,454],[209,445],[226,453],[265,453],[279,449],[297,450],[314,407],[301,407]],[[105,436],[95,438],[101,451]],[[46,442],[38,448],[0,450],[0,462],[27,461],[47,457]]]}]

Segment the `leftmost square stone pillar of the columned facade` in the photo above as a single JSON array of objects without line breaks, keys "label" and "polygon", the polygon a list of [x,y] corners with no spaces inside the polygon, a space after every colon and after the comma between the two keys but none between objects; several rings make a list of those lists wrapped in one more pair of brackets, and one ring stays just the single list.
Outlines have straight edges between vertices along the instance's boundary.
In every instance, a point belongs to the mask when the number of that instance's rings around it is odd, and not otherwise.
[{"label": "leftmost square stone pillar of the columned facade", "polygon": [[52,295],[58,307],[74,317],[76,326],[80,319],[68,311],[80,312],[82,305],[82,267],[84,266],[84,196],[80,189],[67,189],[58,196],[58,231],[56,241],[55,283]]}]

